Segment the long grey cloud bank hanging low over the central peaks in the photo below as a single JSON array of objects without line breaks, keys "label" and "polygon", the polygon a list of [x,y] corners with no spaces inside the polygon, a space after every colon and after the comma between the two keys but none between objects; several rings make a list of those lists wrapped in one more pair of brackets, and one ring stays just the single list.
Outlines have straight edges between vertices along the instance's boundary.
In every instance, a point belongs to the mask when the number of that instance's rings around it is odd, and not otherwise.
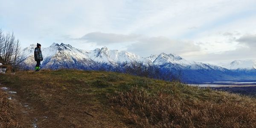
[{"label": "long grey cloud bank hanging low over the central peaks", "polygon": [[98,46],[112,44],[127,44],[126,50],[139,55],[147,56],[161,52],[175,53],[178,55],[189,55],[198,52],[200,47],[189,41],[172,40],[167,37],[147,37],[144,35],[122,35],[114,33],[91,32],[76,40],[86,43],[95,43]]}]

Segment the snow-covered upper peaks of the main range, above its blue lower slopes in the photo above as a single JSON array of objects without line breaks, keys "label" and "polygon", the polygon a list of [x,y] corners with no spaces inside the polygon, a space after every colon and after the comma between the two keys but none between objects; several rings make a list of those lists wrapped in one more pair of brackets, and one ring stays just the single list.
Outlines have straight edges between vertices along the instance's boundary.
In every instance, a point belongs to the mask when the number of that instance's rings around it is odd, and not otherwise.
[{"label": "snow-covered upper peaks of the main range, above its blue lower slopes", "polygon": [[[33,65],[34,60],[34,49],[36,45],[31,44],[29,47],[23,49],[23,54],[26,55],[25,63],[28,65]],[[173,64],[175,66],[191,69],[201,69],[208,68],[206,65],[211,67],[216,67],[211,64],[204,64],[198,62],[189,62],[184,58],[181,58],[178,55],[160,53],[159,55],[151,55],[149,57],[141,57],[140,55],[133,54],[131,52],[120,51],[120,50],[110,50],[107,47],[102,47],[101,49],[94,49],[90,51],[85,51],[81,49],[76,49],[69,44],[53,43],[50,47],[41,48],[44,61],[42,61],[43,67],[52,67],[55,63],[61,65],[61,63],[67,64],[70,63],[76,64],[78,61],[87,62],[97,62],[116,65],[119,63],[130,63],[134,61],[143,62],[143,64],[154,64],[154,65],[163,65],[163,64]],[[86,64],[85,64],[86,65]],[[33,67],[33,66],[32,66]],[[58,66],[59,67],[59,66]]]}]

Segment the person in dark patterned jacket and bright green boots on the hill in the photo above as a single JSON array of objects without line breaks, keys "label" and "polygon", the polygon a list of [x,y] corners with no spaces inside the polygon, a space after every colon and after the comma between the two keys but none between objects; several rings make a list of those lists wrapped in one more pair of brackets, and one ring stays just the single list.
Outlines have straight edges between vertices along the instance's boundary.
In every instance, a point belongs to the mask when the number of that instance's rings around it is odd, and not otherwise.
[{"label": "person in dark patterned jacket and bright green boots on the hill", "polygon": [[35,48],[35,52],[34,52],[34,56],[35,56],[35,61],[36,61],[36,65],[35,65],[35,71],[39,71],[40,70],[40,62],[43,61],[43,55],[42,55],[42,51],[41,51],[41,44],[36,45]]}]

